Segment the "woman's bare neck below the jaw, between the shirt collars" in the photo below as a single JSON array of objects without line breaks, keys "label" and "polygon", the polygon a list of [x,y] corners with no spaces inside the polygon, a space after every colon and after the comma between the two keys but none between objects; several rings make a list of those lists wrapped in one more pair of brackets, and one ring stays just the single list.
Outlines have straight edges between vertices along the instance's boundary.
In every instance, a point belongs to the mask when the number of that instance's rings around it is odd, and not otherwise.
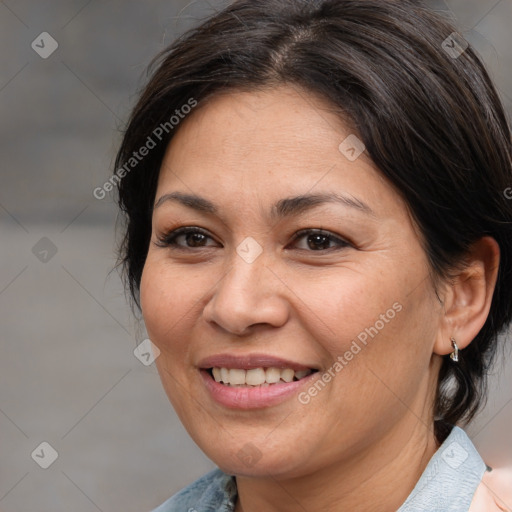
[{"label": "woman's bare neck below the jaw, between the shirt collars", "polygon": [[414,417],[405,423],[365,453],[314,473],[293,479],[237,477],[235,512],[396,511],[437,450],[433,425],[427,428]]}]

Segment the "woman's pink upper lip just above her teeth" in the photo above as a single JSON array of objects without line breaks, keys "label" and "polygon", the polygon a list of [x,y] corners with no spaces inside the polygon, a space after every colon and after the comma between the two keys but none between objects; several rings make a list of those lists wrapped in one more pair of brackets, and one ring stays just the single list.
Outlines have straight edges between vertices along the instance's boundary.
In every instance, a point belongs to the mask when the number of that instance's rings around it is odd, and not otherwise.
[{"label": "woman's pink upper lip just above her teeth", "polygon": [[202,369],[238,368],[241,370],[250,370],[252,368],[291,368],[295,371],[315,369],[307,364],[268,354],[215,354],[201,359],[197,366]]}]

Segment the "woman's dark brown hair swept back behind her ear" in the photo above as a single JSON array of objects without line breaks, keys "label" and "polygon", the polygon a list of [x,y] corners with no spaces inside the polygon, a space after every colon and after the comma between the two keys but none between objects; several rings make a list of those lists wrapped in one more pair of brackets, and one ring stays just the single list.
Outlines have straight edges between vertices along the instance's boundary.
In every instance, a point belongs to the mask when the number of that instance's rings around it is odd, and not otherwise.
[{"label": "woman's dark brown hair swept back behind her ear", "polygon": [[191,98],[229,89],[299,86],[342,112],[405,199],[433,283],[449,279],[481,237],[498,242],[490,314],[458,364],[444,359],[434,404],[439,441],[447,425],[469,421],[485,400],[498,334],[512,316],[512,201],[504,194],[512,149],[496,90],[454,32],[412,0],[240,0],[162,52],[116,159],[117,169],[126,165],[168,123],[118,186],[126,221],[120,262],[135,304],[160,165],[179,129],[169,126],[171,116]]}]

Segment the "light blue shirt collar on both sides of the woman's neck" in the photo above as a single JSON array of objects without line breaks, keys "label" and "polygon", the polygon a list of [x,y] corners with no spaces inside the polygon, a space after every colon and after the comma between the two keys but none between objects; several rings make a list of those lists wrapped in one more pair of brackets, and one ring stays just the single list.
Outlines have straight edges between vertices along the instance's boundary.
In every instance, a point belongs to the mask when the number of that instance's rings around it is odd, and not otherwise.
[{"label": "light blue shirt collar on both sides of the woman's neck", "polygon": [[[453,427],[397,512],[467,512],[486,465],[464,430]],[[233,512],[235,477],[215,469],[153,512]]]}]

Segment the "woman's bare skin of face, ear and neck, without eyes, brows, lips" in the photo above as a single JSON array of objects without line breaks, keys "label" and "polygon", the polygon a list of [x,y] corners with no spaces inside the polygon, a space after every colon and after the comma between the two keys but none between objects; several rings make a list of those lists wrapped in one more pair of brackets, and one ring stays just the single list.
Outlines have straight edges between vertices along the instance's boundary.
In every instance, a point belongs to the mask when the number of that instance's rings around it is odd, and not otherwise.
[{"label": "woman's bare skin of face, ear and neck, without eyes, brows, lips", "polygon": [[[182,122],[161,167],[155,203],[180,191],[215,203],[218,214],[175,201],[154,209],[143,316],[181,421],[237,476],[237,512],[396,510],[437,449],[432,403],[450,336],[464,348],[489,311],[494,240],[483,239],[468,270],[441,283],[440,301],[399,194],[367,154],[351,162],[338,149],[351,133],[329,105],[290,86],[230,93]],[[270,217],[280,199],[322,192],[356,198],[373,214],[323,204]],[[158,245],[182,226],[208,238]],[[294,241],[305,228],[333,238]],[[236,252],[246,237],[263,251],[252,263]],[[199,361],[219,353],[270,354],[320,377],[394,303],[401,311],[307,405],[292,396],[228,409],[200,377]],[[247,444],[257,454],[251,464],[237,456]]]}]

